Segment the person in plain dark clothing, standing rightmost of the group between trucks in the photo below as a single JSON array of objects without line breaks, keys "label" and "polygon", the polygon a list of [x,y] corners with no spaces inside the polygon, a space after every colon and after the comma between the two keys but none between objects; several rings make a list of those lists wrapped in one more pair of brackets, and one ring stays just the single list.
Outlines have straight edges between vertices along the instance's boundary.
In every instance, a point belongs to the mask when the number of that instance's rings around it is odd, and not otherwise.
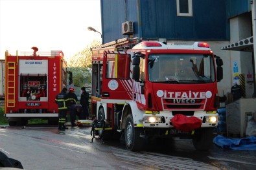
[{"label": "person in plain dark clothing, standing rightmost of the group between trucks", "polygon": [[83,108],[83,113],[81,119],[87,119],[89,117],[89,93],[86,92],[86,87],[81,88],[82,94],[80,99],[80,104]]}]

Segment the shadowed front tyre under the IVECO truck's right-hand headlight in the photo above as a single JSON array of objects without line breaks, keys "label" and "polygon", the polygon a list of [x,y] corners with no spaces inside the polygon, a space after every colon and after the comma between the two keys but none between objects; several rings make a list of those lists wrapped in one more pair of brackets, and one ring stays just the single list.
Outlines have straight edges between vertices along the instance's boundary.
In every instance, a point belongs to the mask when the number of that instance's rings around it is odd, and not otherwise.
[{"label": "shadowed front tyre under the IVECO truck's right-hand headlight", "polygon": [[192,142],[196,150],[207,151],[213,144],[213,128],[200,128],[194,132]]}]

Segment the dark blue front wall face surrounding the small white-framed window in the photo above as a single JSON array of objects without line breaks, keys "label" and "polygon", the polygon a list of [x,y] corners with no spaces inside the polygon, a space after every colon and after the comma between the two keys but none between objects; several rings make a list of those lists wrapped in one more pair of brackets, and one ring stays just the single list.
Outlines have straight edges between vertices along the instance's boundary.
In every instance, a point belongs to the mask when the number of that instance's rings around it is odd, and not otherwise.
[{"label": "dark blue front wall face surrounding the small white-framed window", "polygon": [[227,39],[226,4],[223,0],[192,1],[192,17],[177,16],[176,0],[146,1],[141,4],[141,11],[142,37]]}]

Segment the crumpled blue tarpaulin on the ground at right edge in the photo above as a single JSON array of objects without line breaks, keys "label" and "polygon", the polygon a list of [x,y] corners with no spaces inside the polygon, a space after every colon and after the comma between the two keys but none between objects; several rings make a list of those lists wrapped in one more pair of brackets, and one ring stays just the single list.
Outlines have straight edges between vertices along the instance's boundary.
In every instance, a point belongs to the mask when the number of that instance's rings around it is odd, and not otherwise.
[{"label": "crumpled blue tarpaulin on the ground at right edge", "polygon": [[256,150],[256,137],[247,138],[226,138],[218,135],[213,138],[213,143],[219,147],[232,150]]}]

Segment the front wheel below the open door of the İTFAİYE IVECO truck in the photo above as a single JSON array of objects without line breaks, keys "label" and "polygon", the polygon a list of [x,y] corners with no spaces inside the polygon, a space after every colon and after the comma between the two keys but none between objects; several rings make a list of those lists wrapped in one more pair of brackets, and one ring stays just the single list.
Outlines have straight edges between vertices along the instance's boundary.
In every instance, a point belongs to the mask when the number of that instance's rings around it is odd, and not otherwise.
[{"label": "front wheel below the open door of the \u0130TFA\u0130YE IVECO truck", "polygon": [[139,151],[143,149],[144,139],[140,137],[143,133],[142,127],[134,127],[134,118],[129,114],[126,118],[124,138],[127,149],[130,151]]}]

